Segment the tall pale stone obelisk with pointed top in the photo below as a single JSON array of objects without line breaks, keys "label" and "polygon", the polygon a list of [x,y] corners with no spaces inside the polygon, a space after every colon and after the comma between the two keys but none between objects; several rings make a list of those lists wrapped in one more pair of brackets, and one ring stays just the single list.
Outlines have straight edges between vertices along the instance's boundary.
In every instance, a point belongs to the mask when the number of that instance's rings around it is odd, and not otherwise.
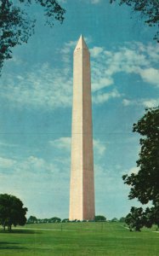
[{"label": "tall pale stone obelisk with pointed top", "polygon": [[70,220],[94,219],[90,54],[81,36],[73,56]]}]

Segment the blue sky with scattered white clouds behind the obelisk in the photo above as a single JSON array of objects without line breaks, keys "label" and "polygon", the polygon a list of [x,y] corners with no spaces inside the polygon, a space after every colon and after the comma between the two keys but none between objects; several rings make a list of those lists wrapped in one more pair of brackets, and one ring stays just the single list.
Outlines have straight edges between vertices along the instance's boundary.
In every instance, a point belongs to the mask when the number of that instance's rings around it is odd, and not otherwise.
[{"label": "blue sky with scattered white clouds behind the obelisk", "polygon": [[159,102],[159,47],[154,28],[108,2],[60,1],[65,21],[53,29],[34,6],[35,35],[4,64],[0,187],[24,202],[28,216],[68,218],[72,55],[81,34],[91,54],[96,214],[120,218],[139,205],[128,201],[122,175],[138,172],[133,123]]}]

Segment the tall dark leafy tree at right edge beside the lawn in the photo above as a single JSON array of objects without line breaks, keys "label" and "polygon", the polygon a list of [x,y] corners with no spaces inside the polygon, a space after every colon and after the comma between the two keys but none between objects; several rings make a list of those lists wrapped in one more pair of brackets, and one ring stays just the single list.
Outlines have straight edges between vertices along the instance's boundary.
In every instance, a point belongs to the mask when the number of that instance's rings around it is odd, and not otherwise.
[{"label": "tall dark leafy tree at right edge beside the lawn", "polygon": [[142,136],[137,160],[139,172],[123,175],[122,178],[124,183],[131,186],[129,199],[137,198],[142,204],[151,202],[153,207],[147,207],[145,212],[133,207],[128,218],[133,218],[132,214],[139,217],[140,212],[143,224],[150,228],[152,224],[159,225],[159,107],[146,108],[145,115],[133,125],[133,132],[139,132]]}]

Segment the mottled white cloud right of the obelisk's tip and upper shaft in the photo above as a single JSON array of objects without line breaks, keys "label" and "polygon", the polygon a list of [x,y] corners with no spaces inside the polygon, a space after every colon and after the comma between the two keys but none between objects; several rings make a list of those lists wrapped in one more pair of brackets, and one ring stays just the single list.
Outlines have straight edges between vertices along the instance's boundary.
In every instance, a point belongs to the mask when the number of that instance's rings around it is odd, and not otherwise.
[{"label": "mottled white cloud right of the obelisk's tip and upper shaft", "polygon": [[159,49],[156,46],[134,42],[110,51],[94,47],[90,52],[93,57],[93,90],[114,84],[116,73],[138,74],[146,83],[159,85],[159,70],[156,69]]}]

